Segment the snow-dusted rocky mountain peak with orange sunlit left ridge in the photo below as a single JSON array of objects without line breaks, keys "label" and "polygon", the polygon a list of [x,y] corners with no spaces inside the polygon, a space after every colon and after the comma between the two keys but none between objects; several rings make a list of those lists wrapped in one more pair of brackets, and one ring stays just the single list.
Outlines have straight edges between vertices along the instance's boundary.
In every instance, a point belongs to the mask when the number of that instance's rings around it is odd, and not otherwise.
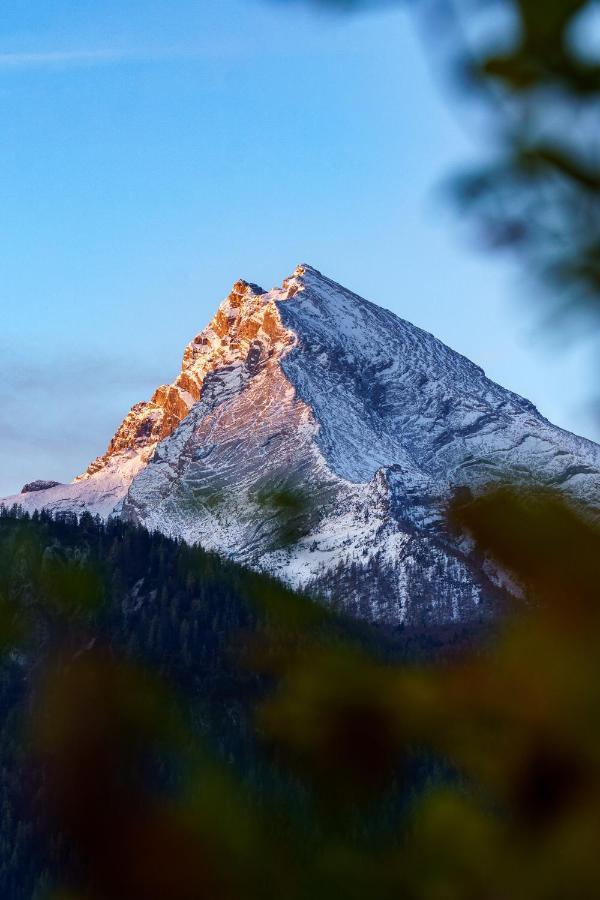
[{"label": "snow-dusted rocky mountain peak with orange sunlit left ridge", "polygon": [[445,504],[505,476],[600,504],[600,447],[302,265],[238,281],[83,475],[4,503],[120,515],[377,621],[448,621],[485,615],[501,578]]}]

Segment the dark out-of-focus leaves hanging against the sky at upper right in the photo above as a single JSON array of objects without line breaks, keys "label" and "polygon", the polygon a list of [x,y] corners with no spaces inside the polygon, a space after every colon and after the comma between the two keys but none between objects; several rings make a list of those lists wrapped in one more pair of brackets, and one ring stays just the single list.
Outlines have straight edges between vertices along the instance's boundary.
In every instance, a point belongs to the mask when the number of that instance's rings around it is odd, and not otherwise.
[{"label": "dark out-of-focus leaves hanging against the sky at upper right", "polygon": [[[298,0],[279,0],[280,3]],[[356,12],[377,0],[305,0]],[[396,0],[426,51],[485,114],[483,161],[454,180],[481,243],[516,252],[549,324],[600,321],[598,0]],[[531,292],[530,292],[531,299]],[[588,334],[589,332],[586,332]]]}]

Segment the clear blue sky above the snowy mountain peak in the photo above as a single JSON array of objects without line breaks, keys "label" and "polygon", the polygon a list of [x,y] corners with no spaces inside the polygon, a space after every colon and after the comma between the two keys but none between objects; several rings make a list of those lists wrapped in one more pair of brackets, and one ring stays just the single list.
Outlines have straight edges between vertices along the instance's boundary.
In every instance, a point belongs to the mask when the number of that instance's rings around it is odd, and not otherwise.
[{"label": "clear blue sky above the snowy mountain peak", "polygon": [[478,146],[401,10],[3,0],[0,495],[70,480],[244,277],[309,262],[594,436],[582,352],[440,183]]}]

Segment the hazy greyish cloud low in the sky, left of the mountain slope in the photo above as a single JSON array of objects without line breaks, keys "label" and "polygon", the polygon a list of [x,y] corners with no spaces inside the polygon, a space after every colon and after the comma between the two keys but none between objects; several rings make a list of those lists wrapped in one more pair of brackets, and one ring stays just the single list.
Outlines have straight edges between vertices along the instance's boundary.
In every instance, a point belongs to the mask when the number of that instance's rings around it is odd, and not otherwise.
[{"label": "hazy greyish cloud low in the sky, left of the mountain slope", "polygon": [[131,405],[168,381],[151,361],[0,343],[0,497],[26,481],[68,481],[102,453]]}]

